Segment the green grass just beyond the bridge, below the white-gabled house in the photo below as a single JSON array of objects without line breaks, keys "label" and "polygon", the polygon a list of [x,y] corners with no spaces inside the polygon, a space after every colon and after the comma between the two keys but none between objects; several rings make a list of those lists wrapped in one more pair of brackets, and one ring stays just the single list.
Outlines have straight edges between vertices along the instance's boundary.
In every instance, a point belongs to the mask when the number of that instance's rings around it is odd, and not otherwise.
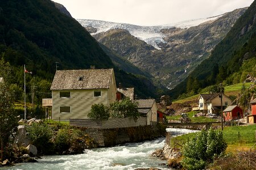
[{"label": "green grass just beyond the bridge, below the white-gabled house", "polygon": [[[188,117],[191,118],[192,123],[204,123],[204,122],[217,122],[219,120],[215,118],[209,118],[205,116],[200,116],[200,117],[193,117],[195,114],[195,111],[188,112]],[[180,120],[181,116],[166,116],[167,120]]]}]

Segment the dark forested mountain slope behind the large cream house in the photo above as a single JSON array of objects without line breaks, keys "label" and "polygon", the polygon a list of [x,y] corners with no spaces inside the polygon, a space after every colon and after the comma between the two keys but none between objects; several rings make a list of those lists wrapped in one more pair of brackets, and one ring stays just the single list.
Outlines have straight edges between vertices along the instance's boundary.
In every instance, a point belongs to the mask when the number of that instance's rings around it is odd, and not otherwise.
[{"label": "dark forested mountain slope behind the large cream house", "polygon": [[115,67],[98,42],[49,0],[0,1],[0,53],[14,67],[13,81],[20,86],[22,65],[37,79],[51,81],[59,62],[59,69],[114,67],[117,83],[135,87],[140,96],[155,96],[150,80]]}]

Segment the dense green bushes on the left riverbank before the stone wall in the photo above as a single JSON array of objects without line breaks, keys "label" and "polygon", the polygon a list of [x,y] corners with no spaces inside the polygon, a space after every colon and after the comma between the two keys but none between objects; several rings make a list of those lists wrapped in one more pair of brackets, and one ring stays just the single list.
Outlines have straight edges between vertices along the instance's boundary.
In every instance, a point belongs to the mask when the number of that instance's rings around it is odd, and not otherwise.
[{"label": "dense green bushes on the left riverbank before the stone wall", "polygon": [[86,148],[97,146],[84,130],[68,125],[33,123],[26,130],[39,155],[82,154]]}]

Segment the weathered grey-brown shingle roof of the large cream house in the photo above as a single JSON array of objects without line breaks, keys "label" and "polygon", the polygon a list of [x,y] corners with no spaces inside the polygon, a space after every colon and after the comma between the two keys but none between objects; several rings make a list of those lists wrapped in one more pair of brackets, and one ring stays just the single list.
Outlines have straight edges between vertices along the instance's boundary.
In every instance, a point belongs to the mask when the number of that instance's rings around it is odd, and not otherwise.
[{"label": "weathered grey-brown shingle roof of the large cream house", "polygon": [[113,69],[57,70],[51,90],[109,88],[113,74]]}]

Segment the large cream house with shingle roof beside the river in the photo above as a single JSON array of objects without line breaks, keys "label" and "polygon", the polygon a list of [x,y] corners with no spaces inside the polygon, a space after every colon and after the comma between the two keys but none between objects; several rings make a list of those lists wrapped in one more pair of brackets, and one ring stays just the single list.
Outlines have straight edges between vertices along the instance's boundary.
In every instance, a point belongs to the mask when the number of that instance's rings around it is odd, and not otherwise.
[{"label": "large cream house with shingle roof beside the river", "polygon": [[53,119],[88,118],[93,104],[116,100],[114,70],[57,70],[51,90]]}]

